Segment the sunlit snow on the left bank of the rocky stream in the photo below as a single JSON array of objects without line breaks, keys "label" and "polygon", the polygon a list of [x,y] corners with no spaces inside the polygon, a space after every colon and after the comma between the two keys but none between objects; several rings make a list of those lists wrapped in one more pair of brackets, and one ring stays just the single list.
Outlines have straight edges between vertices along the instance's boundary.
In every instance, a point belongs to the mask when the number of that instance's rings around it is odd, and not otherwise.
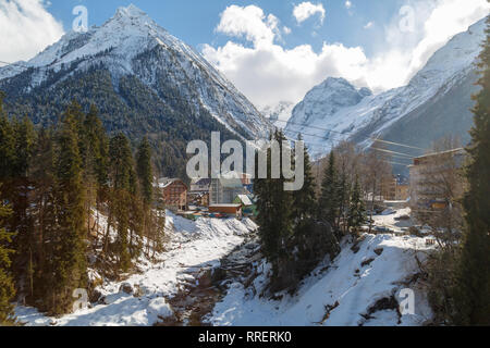
[{"label": "sunlit snow on the left bank of the rocky stream", "polygon": [[[193,273],[219,265],[220,259],[241,245],[244,236],[257,226],[249,220],[240,222],[234,219],[193,222],[168,212],[167,227],[170,241],[168,251],[158,256],[160,262],[152,264],[140,260],[140,274],[134,274],[124,282],[106,283],[98,288],[108,304],[96,304],[60,319],[47,318],[33,308],[17,307],[17,319],[27,325],[152,325],[173,315],[166,299],[175,296],[183,283],[195,283]],[[139,289],[142,296],[120,291],[124,283]]]}]

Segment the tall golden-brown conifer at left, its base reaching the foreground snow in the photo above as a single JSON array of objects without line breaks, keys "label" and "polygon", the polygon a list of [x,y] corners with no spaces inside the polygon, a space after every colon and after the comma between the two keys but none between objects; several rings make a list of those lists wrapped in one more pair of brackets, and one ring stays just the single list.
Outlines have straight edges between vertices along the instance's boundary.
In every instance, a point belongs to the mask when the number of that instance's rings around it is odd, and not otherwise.
[{"label": "tall golden-brown conifer at left, its base reaching the foreground snow", "polygon": [[76,114],[68,110],[58,135],[54,204],[57,225],[50,232],[51,254],[48,265],[50,294],[46,294],[51,314],[71,310],[73,290],[86,288],[85,209],[82,158],[78,150]]}]

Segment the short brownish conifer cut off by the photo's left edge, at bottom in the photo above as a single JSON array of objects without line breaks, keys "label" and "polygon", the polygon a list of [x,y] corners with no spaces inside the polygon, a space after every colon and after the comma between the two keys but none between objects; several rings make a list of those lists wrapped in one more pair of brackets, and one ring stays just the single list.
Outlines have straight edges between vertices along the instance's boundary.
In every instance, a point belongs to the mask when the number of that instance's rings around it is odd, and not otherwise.
[{"label": "short brownish conifer cut off by the photo's left edge, at bottom", "polygon": [[10,214],[11,210],[2,203],[0,206],[0,326],[15,324],[14,309],[11,303],[15,296],[15,288],[9,271],[10,254],[14,251],[9,248],[13,234],[5,231],[5,220]]}]

